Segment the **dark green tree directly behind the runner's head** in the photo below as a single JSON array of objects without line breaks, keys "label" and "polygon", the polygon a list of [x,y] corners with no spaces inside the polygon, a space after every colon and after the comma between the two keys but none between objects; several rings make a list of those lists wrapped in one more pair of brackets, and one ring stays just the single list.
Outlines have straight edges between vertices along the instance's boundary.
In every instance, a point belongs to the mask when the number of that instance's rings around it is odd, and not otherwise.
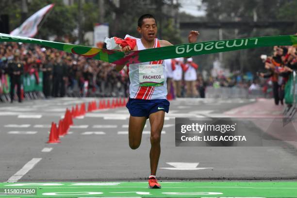
[{"label": "dark green tree directly behind the runner's head", "polygon": [[[105,0],[106,9],[112,12],[106,14],[110,22],[111,36],[124,37],[126,34],[138,36],[137,20],[143,14],[152,14],[158,24],[158,37],[174,44],[181,43],[179,30],[174,28],[173,21],[163,12],[164,6],[172,6],[169,0],[120,0],[116,6],[112,0]],[[178,4],[173,6],[179,6]],[[176,7],[175,7],[176,8]],[[113,17],[114,15],[114,17]]]}]

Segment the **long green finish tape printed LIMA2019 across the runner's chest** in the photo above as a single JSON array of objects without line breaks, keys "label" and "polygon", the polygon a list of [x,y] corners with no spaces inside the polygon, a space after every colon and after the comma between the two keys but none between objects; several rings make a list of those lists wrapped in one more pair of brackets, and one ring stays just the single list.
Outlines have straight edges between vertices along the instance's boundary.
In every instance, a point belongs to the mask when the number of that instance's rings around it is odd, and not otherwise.
[{"label": "long green finish tape printed LIMA2019 across the runner's chest", "polygon": [[126,54],[116,50],[99,49],[22,36],[12,36],[10,34],[4,33],[0,33],[0,42],[34,43],[54,49],[63,50],[69,53],[79,54],[108,63],[124,65],[218,53],[224,51],[233,51],[238,49],[250,49],[268,46],[297,46],[297,35],[263,36],[219,41],[206,41],[199,43],[187,43],[168,47],[132,51]]}]

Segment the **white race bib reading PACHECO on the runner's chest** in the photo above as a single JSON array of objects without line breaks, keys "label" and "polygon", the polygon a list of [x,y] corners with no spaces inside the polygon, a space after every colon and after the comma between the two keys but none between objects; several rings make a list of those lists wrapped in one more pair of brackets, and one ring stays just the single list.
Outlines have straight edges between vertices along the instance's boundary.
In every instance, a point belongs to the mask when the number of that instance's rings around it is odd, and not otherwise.
[{"label": "white race bib reading PACHECO on the runner's chest", "polygon": [[139,66],[140,86],[163,86],[163,84],[164,74],[162,64]]}]

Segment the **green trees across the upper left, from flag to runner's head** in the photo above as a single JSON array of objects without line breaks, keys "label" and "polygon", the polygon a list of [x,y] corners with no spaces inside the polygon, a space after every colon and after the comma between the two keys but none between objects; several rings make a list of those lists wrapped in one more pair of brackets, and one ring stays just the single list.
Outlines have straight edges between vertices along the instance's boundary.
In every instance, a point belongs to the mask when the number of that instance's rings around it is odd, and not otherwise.
[{"label": "green trees across the upper left, from flag to runner's head", "polygon": [[[42,7],[50,3],[55,3],[53,9],[41,22],[41,28],[35,37],[42,39],[48,39],[52,35],[73,37],[74,30],[78,28],[80,17],[77,1],[74,2],[73,5],[67,6],[62,0],[28,1],[29,10],[27,17],[33,15]],[[175,44],[181,43],[180,33],[173,26],[173,21],[162,12],[162,6],[170,3],[170,0],[120,0],[119,7],[117,7],[114,1],[105,0],[104,19],[110,25],[110,36],[124,37],[126,34],[138,36],[136,31],[138,17],[146,13],[151,13],[157,19],[159,37],[162,33],[162,39]],[[10,2],[0,1],[0,9],[3,10],[3,14],[9,14],[11,31],[20,26],[21,0],[10,0]],[[96,1],[85,1],[82,3],[82,34],[93,31],[95,23],[98,23],[98,19],[99,4]]]}]

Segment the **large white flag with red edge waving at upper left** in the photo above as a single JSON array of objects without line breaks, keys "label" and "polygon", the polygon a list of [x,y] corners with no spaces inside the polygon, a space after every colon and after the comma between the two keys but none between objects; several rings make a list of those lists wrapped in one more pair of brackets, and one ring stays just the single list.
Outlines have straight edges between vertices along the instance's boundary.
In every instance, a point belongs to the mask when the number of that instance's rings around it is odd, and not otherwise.
[{"label": "large white flag with red edge waving at upper left", "polygon": [[21,26],[13,30],[10,34],[14,36],[34,37],[38,32],[38,25],[43,17],[49,12],[54,4],[49,4],[25,20]]}]

